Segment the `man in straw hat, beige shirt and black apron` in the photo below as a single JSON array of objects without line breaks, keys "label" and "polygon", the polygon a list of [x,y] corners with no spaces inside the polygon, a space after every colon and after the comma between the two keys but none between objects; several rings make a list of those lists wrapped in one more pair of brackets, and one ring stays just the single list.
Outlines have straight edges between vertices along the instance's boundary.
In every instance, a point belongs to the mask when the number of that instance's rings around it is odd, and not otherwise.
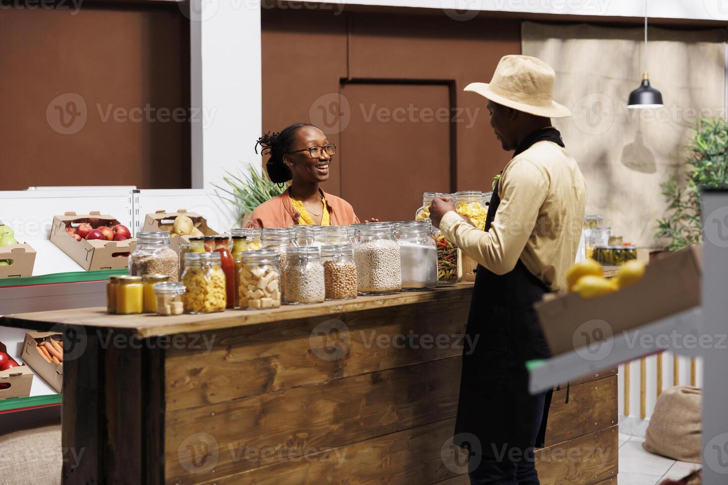
[{"label": "man in straw hat, beige shirt and black apron", "polygon": [[515,151],[496,182],[486,231],[436,198],[430,219],[478,262],[454,441],[470,453],[472,484],[538,484],[551,393],[531,396],[526,361],[549,351],[533,305],[565,289],[587,199],[584,177],[551,118],[571,116],[552,99],[555,73],[542,60],[507,55],[490,84],[465,91],[488,100],[491,127]]}]

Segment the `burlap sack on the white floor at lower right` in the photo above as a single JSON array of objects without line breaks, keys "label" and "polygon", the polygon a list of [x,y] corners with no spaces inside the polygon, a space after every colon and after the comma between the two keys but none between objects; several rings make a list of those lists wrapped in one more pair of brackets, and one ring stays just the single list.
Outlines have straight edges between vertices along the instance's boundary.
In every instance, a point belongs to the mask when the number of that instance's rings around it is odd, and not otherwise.
[{"label": "burlap sack on the white floor at lower right", "polygon": [[673,460],[700,463],[702,406],[700,388],[681,385],[665,389],[649,419],[644,449]]}]

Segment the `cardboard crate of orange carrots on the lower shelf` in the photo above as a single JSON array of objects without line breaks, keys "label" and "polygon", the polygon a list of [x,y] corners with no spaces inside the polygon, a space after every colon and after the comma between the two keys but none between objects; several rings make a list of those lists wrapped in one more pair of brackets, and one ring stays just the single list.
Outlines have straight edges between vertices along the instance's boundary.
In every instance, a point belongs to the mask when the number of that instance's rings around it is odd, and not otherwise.
[{"label": "cardboard crate of orange carrots on the lower shelf", "polygon": [[21,356],[58,393],[63,390],[62,337],[58,332],[25,332]]}]

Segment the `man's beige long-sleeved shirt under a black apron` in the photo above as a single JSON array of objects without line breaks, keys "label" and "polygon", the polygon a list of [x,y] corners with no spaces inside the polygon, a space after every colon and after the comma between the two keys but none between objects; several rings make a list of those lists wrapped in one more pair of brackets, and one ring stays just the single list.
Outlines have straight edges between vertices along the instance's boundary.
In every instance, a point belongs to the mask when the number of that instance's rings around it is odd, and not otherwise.
[{"label": "man's beige long-sleeved shirt under a black apron", "polygon": [[502,275],[523,265],[553,292],[566,289],[587,200],[577,162],[556,143],[540,141],[508,162],[490,231],[448,212],[440,230],[473,260]]}]

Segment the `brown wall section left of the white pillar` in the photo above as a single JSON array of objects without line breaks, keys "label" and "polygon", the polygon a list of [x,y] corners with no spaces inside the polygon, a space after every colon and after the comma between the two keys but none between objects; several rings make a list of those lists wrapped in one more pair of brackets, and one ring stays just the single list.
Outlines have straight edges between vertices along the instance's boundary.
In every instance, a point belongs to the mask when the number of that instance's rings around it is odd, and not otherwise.
[{"label": "brown wall section left of the white pillar", "polygon": [[[89,3],[76,15],[40,8],[0,14],[0,190],[189,188],[188,122],[149,122],[143,112],[141,122],[114,121],[113,114],[147,104],[189,109],[189,20],[175,4]],[[77,96],[57,98],[66,93]],[[65,130],[59,109],[73,133],[54,129]],[[69,112],[85,112],[86,123]]]}]

